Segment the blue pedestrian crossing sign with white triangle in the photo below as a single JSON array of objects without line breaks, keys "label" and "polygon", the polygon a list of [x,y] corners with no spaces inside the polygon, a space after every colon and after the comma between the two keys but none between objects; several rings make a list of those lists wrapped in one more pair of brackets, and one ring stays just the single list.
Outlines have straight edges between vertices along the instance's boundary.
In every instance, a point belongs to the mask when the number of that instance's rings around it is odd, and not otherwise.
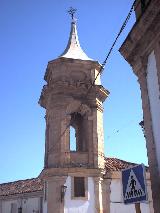
[{"label": "blue pedestrian crossing sign with white triangle", "polygon": [[143,164],[122,171],[125,204],[147,201],[146,172]]}]

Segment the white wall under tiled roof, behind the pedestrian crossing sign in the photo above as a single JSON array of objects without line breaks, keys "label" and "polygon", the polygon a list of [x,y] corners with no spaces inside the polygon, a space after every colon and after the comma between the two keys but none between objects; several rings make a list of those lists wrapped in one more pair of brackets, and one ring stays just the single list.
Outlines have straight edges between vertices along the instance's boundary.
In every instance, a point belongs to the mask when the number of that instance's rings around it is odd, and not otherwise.
[{"label": "white wall under tiled roof, behind the pedestrian crossing sign", "polygon": [[[148,187],[150,189],[150,184]],[[135,213],[135,205],[129,204],[124,205],[122,202],[122,183],[120,179],[112,179],[110,185],[110,213]],[[151,193],[151,190],[148,190]],[[149,200],[151,199],[151,194],[149,194]],[[141,213],[151,213],[149,203],[141,203]]]}]

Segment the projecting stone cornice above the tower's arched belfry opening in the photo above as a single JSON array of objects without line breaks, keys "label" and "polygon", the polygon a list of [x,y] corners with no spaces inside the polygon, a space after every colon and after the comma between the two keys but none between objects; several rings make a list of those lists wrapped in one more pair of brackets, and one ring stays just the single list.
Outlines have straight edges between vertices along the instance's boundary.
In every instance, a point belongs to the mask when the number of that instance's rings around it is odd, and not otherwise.
[{"label": "projecting stone cornice above the tower's arched belfry opening", "polygon": [[109,91],[106,90],[102,85],[94,85],[91,89],[90,87],[91,83],[89,81],[84,82],[72,79],[68,81],[57,80],[52,82],[52,85],[45,85],[43,87],[39,99],[39,104],[46,108],[49,104],[49,100],[52,99],[52,97],[56,97],[56,95],[59,97],[60,95],[66,97],[71,96],[76,99],[78,98],[79,100],[84,100],[86,94],[88,94],[89,99],[95,99],[97,97],[102,102],[104,102],[109,95]]}]

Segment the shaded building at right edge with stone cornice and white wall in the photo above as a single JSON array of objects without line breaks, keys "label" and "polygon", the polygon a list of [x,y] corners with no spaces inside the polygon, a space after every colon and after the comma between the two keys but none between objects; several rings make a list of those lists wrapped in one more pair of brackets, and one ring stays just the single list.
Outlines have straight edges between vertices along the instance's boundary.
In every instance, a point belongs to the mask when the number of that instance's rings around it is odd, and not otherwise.
[{"label": "shaded building at right edge with stone cornice and white wall", "polygon": [[136,23],[120,48],[141,89],[154,210],[160,209],[160,1],[137,0]]}]

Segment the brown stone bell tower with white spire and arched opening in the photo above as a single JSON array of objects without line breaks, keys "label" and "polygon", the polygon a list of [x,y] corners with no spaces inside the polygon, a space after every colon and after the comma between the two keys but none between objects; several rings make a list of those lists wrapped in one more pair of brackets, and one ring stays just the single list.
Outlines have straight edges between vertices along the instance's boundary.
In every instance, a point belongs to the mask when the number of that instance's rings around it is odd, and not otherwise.
[{"label": "brown stone bell tower with white spire and arched opening", "polygon": [[[39,103],[46,109],[45,183],[48,213],[106,212],[102,103],[109,92],[94,81],[101,65],[81,49],[72,13],[68,45],[48,63]],[[93,85],[92,85],[93,84]],[[70,127],[76,150],[70,148]]]}]

